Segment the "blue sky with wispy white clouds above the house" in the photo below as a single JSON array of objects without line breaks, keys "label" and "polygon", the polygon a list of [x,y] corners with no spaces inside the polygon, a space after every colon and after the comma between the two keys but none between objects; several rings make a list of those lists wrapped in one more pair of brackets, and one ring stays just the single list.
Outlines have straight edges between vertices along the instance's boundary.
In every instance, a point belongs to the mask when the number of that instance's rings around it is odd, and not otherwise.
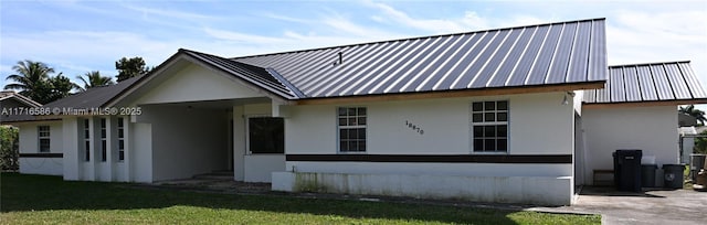
[{"label": "blue sky with wispy white clouds above the house", "polygon": [[610,64],[692,60],[707,87],[707,1],[0,1],[0,86],[21,60],[76,81],[178,49],[241,56],[606,18]]}]

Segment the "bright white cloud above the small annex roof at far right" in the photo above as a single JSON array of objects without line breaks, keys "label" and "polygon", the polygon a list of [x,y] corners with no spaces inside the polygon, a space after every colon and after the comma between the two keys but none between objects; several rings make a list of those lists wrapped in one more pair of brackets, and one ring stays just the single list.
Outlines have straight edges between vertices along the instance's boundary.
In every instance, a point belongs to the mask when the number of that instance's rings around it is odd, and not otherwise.
[{"label": "bright white cloud above the small annex roof at far right", "polygon": [[618,11],[606,39],[611,64],[693,60],[707,81],[707,14],[701,11]]}]

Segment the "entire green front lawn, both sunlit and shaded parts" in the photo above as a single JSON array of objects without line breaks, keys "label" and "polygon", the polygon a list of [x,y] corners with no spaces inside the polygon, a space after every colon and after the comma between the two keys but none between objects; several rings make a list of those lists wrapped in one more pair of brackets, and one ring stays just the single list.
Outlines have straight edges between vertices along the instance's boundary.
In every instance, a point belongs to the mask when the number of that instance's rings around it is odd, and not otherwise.
[{"label": "entire green front lawn, both sunlit and shaded parts", "polygon": [[0,224],[600,224],[598,215],[136,189],[2,173]]}]

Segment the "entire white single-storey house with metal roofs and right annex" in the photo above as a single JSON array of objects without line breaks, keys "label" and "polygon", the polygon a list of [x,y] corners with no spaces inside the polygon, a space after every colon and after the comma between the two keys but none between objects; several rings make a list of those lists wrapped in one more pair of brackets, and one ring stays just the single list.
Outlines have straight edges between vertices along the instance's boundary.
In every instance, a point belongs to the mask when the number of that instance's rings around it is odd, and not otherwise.
[{"label": "entire white single-storey house with metal roofs and right annex", "polygon": [[707,99],[687,62],[609,69],[604,32],[592,19],[235,58],[179,50],[48,104],[61,120],[18,124],[20,144],[39,153],[49,126],[65,180],[232,170],[275,191],[567,205],[614,149],[677,162],[676,104]]}]

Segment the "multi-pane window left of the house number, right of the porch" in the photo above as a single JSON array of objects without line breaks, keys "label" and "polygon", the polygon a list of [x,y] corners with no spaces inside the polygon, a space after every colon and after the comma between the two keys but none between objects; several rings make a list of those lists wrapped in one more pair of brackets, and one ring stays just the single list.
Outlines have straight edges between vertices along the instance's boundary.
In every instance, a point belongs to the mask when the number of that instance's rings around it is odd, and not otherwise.
[{"label": "multi-pane window left of the house number, right of the porch", "polygon": [[339,151],[366,152],[366,107],[339,107]]}]

